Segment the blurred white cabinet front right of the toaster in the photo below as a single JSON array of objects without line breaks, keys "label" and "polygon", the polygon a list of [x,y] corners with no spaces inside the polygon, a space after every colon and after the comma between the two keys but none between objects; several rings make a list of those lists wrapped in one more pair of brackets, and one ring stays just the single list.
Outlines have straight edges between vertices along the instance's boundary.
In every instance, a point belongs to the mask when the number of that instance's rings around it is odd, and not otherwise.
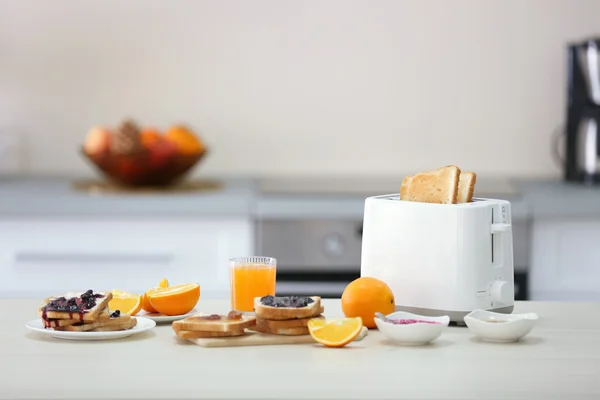
[{"label": "blurred white cabinet front right of the toaster", "polygon": [[531,300],[600,301],[600,219],[536,219]]}]

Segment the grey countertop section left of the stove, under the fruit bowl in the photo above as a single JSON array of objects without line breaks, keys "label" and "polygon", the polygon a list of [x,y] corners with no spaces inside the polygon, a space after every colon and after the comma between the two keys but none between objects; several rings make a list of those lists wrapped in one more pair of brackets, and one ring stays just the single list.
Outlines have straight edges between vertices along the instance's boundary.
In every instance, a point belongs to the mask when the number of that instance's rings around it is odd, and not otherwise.
[{"label": "grey countertop section left of the stove, under the fruit bowl", "polygon": [[[68,178],[0,181],[0,215],[247,216],[252,212],[254,200],[253,183],[247,179],[221,179],[216,189],[175,191],[166,195],[76,190],[74,183],[77,182]],[[205,186],[210,187],[210,184]]]}]

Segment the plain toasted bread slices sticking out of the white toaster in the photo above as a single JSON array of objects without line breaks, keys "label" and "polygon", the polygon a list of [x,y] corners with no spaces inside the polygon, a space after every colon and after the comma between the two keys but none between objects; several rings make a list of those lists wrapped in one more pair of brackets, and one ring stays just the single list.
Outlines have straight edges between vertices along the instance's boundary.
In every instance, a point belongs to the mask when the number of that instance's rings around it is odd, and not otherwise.
[{"label": "plain toasted bread slices sticking out of the white toaster", "polygon": [[462,172],[456,165],[407,176],[400,187],[400,200],[458,204],[473,199],[477,175]]}]

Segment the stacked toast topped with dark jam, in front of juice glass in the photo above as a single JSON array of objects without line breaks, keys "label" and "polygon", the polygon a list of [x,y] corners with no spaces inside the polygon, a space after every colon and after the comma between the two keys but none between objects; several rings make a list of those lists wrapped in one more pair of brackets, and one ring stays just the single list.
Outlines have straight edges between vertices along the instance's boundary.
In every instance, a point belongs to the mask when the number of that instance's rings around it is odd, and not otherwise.
[{"label": "stacked toast topped with dark jam, in front of juice glass", "polygon": [[256,324],[248,329],[274,335],[309,335],[308,321],[324,319],[318,296],[265,296],[254,299]]}]

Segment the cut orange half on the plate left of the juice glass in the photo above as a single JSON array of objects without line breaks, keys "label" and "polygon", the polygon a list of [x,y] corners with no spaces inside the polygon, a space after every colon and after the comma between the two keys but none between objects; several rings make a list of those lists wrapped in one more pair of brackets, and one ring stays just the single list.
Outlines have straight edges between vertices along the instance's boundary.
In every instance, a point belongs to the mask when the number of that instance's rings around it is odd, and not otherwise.
[{"label": "cut orange half on the plate left of the juice glass", "polygon": [[157,312],[164,315],[182,315],[196,307],[200,299],[200,285],[186,283],[167,288],[150,289],[146,295]]}]

